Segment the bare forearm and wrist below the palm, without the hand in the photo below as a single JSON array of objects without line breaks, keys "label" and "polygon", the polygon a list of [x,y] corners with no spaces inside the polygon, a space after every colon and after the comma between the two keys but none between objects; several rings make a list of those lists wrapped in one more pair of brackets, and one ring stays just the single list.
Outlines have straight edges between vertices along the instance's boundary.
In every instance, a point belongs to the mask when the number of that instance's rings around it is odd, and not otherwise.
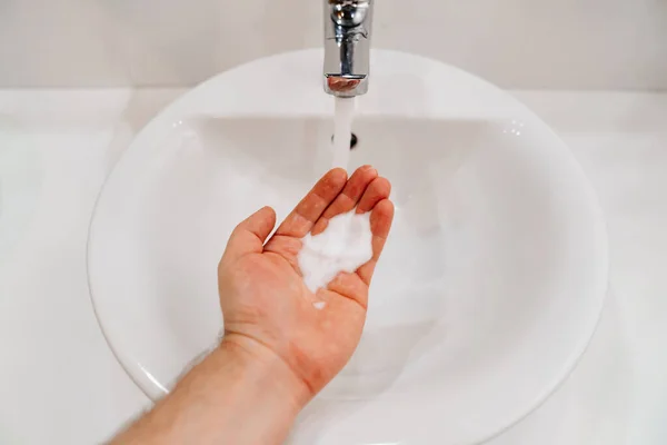
[{"label": "bare forearm and wrist below the palm, without the hand", "polygon": [[280,444],[309,396],[262,346],[223,340],[112,444]]}]

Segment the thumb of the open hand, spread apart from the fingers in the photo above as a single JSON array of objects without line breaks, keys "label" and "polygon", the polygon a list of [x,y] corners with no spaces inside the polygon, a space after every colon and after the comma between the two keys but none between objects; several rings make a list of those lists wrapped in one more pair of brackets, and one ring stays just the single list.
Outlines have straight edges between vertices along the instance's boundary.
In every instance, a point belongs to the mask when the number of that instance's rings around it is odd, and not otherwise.
[{"label": "thumb of the open hand, spread apart from the fingers", "polygon": [[248,254],[260,254],[263,243],[276,226],[276,211],[263,207],[239,224],[227,241],[222,259],[236,259]]}]

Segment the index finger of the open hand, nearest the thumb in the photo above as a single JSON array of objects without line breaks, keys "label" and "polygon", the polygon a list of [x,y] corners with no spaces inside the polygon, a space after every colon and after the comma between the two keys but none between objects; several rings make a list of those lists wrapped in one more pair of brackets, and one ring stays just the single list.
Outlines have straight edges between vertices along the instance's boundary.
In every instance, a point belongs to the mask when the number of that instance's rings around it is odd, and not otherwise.
[{"label": "index finger of the open hand, nearest the thumb", "polygon": [[277,235],[302,238],[317,222],[322,212],[340,194],[347,182],[347,171],[335,168],[326,174],[306,195],[301,202],[278,227]]}]

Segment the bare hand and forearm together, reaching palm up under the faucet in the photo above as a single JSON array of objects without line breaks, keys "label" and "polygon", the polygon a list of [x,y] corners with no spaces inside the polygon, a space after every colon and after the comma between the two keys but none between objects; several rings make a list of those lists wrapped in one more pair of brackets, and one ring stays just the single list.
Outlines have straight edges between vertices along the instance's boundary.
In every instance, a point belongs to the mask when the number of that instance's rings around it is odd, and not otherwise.
[{"label": "bare hand and forearm together, reaching palm up under the faucet", "polygon": [[[334,169],[270,238],[276,212],[269,207],[239,224],[218,267],[222,342],[112,444],[281,444],[298,413],[359,343],[372,273],[394,218],[390,188],[370,166],[349,179]],[[372,258],[316,295],[298,267],[301,238],[355,208],[370,212]]]}]

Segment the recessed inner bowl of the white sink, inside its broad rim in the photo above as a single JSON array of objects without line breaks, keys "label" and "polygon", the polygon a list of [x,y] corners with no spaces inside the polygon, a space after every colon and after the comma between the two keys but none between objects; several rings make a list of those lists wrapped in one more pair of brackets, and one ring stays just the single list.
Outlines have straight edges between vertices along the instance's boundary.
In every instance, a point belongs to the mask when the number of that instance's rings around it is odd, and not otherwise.
[{"label": "recessed inner bowl of the white sink, inside its broad rim", "polygon": [[[529,137],[508,132],[511,126],[356,122],[352,166],[372,164],[391,179],[397,218],[376,273],[364,342],[344,373],[370,374],[374,385],[357,382],[338,395],[358,397],[388,383],[376,374],[394,377],[415,363],[414,355],[436,347],[426,375],[406,384],[428,387],[429,378],[485,369],[535,336],[542,317],[561,315],[545,306],[571,307],[567,298],[575,295],[559,294],[557,271],[566,258],[561,249],[574,246],[561,230],[555,185],[522,156],[531,149]],[[326,118],[199,117],[170,136],[176,144],[165,145],[163,155],[172,164],[161,165],[153,179],[150,204],[138,217],[146,238],[135,246],[155,255],[150,263],[169,277],[151,291],[170,303],[163,319],[172,324],[170,347],[178,347],[161,380],[178,375],[221,328],[213,266],[233,224],[265,204],[287,215],[321,174],[330,138]]]}]

